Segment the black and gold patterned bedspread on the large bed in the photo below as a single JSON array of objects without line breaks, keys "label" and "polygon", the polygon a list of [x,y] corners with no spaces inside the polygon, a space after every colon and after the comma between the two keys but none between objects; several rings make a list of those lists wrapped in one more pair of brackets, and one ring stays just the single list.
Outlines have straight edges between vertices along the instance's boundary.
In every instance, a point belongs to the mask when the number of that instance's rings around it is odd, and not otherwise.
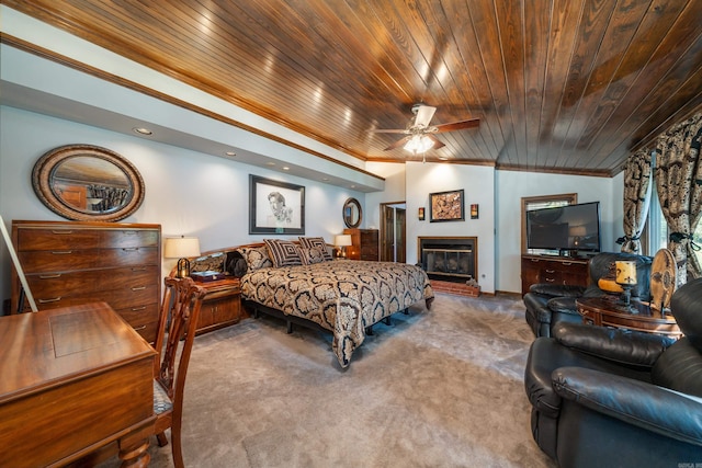
[{"label": "black and gold patterned bedspread on the large bed", "polygon": [[241,278],[241,295],[331,331],[342,367],[363,343],[366,327],[434,296],[418,266],[353,260],[257,270]]}]

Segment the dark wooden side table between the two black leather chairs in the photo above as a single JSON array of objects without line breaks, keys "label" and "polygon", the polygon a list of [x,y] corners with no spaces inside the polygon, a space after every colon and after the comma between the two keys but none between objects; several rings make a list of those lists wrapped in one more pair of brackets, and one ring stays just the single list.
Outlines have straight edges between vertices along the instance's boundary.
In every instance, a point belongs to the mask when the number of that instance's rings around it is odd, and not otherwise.
[{"label": "dark wooden side table between the two black leather chairs", "polygon": [[661,316],[660,311],[637,300],[632,300],[636,313],[626,311],[616,299],[608,297],[576,299],[576,307],[585,323],[658,333],[675,339],[682,335],[670,311]]}]

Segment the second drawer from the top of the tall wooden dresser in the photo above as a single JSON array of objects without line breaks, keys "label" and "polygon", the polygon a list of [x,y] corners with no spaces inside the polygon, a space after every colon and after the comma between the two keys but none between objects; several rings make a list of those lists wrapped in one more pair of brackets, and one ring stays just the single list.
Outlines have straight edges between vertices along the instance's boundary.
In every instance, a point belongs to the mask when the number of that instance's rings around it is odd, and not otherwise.
[{"label": "second drawer from the top of the tall wooden dresser", "polygon": [[18,254],[27,274],[113,266],[157,265],[158,248],[55,249]]}]

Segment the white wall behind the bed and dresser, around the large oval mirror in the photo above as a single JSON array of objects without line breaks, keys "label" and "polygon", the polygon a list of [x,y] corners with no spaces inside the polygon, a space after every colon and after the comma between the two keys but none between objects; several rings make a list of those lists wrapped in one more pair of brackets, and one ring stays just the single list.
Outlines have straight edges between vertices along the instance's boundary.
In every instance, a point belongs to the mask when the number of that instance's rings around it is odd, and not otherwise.
[{"label": "white wall behind the bed and dresser, around the large oval mirror", "polygon": [[[32,169],[46,151],[68,144],[116,151],[140,172],[146,185],[141,207],[123,222],[160,224],[163,237],[197,236],[203,251],[252,242],[248,235],[249,174],[304,185],[305,233],[333,241],[344,226],[343,202],[365,202],[365,194],[225,158],[151,142],[14,107],[0,106],[0,215],[8,230],[13,219],[63,220],[32,190]],[[0,249],[0,299],[10,297],[10,258]],[[170,269],[171,264],[165,264]]]}]

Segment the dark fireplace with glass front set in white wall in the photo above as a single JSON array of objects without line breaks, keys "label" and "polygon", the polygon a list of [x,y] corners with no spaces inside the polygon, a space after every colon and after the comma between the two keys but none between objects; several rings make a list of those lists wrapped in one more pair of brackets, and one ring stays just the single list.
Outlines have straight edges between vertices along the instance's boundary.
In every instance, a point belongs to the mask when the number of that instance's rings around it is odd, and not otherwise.
[{"label": "dark fireplace with glass front set in white wall", "polygon": [[476,237],[420,237],[419,262],[430,279],[466,284],[476,279]]}]

